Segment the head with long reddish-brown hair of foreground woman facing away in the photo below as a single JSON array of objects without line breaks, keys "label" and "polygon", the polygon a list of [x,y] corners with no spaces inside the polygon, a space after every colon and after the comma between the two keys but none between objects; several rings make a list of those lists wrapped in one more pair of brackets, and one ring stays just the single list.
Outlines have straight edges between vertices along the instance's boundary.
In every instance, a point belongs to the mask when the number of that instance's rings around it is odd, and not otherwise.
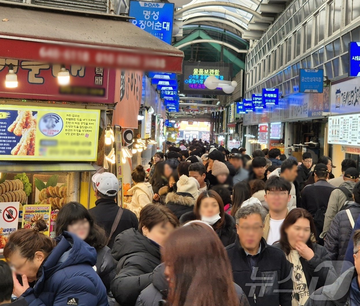
[{"label": "head with long reddish-brown hair of foreground woman facing away", "polygon": [[168,305],[248,305],[246,297],[237,295],[224,246],[207,225],[195,222],[171,233],[162,258]]}]

